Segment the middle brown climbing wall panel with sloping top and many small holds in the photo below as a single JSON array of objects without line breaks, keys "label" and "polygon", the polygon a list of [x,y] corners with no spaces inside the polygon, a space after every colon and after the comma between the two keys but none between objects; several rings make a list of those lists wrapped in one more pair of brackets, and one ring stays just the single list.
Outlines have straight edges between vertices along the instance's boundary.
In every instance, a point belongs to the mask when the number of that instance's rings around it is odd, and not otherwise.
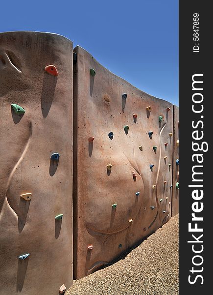
[{"label": "middle brown climbing wall panel with sloping top and many small holds", "polygon": [[74,278],[81,278],[169,220],[173,105],[81,47],[74,52]]}]

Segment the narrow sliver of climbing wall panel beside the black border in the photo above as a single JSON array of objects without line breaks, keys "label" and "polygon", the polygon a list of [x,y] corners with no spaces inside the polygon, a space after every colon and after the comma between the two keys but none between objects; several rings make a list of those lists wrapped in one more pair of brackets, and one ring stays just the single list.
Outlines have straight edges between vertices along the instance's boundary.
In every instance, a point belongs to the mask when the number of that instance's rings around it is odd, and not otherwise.
[{"label": "narrow sliver of climbing wall panel beside the black border", "polygon": [[172,216],[179,212],[179,112],[174,106]]}]

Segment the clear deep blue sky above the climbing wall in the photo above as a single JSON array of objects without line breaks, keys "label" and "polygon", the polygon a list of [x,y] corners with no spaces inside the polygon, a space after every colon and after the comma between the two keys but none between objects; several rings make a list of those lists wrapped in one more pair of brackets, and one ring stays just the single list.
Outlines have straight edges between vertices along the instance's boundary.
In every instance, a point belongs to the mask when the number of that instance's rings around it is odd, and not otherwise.
[{"label": "clear deep blue sky above the climbing wall", "polygon": [[178,0],[3,0],[0,31],[55,32],[137,88],[178,105]]}]

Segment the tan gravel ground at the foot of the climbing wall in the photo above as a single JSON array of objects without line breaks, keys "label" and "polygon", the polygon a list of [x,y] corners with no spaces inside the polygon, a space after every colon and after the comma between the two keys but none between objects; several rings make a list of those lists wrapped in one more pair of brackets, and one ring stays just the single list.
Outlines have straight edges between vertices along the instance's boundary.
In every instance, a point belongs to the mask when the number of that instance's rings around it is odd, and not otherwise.
[{"label": "tan gravel ground at the foot of the climbing wall", "polygon": [[75,280],[65,295],[178,295],[178,215],[126,257]]}]

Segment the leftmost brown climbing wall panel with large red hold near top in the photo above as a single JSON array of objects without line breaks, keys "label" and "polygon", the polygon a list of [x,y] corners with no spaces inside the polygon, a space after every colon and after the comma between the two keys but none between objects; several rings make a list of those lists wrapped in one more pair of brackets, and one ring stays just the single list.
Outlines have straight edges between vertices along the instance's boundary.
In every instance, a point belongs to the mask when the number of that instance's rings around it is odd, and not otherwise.
[{"label": "leftmost brown climbing wall panel with large red hold near top", "polygon": [[0,104],[0,295],[58,295],[72,283],[72,42],[0,33]]}]

